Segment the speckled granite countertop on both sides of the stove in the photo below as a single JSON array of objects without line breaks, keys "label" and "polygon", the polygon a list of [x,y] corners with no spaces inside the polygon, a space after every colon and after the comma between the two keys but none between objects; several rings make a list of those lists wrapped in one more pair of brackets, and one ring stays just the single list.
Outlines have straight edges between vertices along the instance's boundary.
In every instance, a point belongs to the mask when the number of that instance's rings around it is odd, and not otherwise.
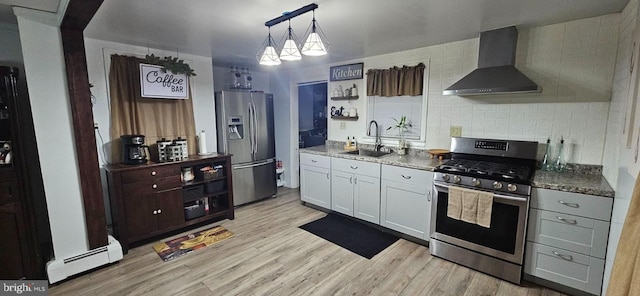
[{"label": "speckled granite countertop on both sides of the stove", "polygon": [[[370,157],[345,154],[344,152],[344,149],[335,145],[316,146],[300,149],[300,153],[363,160],[427,171],[433,171],[436,166],[442,164],[442,161],[439,161],[437,159],[430,159],[424,154],[410,153],[410,155],[398,155],[397,153],[391,153],[381,157]],[[613,190],[613,188],[611,188],[604,176],[602,176],[602,174],[599,172],[582,173],[570,171],[558,173],[538,170],[536,171],[533,179],[533,187],[598,195],[604,197],[615,196],[615,191]]]}]

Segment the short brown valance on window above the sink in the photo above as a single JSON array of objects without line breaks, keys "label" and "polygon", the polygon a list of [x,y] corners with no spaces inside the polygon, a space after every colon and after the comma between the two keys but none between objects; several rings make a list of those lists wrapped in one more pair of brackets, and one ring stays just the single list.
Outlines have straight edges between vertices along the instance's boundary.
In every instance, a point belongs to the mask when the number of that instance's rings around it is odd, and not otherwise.
[{"label": "short brown valance on window above the sink", "polygon": [[424,64],[367,71],[367,96],[397,97],[422,95]]}]

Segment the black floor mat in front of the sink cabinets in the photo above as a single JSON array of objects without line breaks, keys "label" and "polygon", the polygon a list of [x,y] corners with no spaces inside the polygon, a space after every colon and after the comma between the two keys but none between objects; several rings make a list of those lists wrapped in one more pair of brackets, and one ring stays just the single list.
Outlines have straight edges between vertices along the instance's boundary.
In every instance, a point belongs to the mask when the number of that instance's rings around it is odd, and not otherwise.
[{"label": "black floor mat in front of the sink cabinets", "polygon": [[398,240],[390,233],[332,213],[300,228],[367,259]]}]

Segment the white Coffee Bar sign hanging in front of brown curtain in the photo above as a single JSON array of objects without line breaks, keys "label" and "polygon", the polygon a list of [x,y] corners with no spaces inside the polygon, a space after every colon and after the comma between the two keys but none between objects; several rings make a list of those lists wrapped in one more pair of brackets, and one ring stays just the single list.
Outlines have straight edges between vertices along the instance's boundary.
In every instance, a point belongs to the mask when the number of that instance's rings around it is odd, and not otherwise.
[{"label": "white Coffee Bar sign hanging in front of brown curtain", "polygon": [[162,72],[161,66],[140,64],[140,86],[143,98],[187,99],[189,78],[186,74]]}]

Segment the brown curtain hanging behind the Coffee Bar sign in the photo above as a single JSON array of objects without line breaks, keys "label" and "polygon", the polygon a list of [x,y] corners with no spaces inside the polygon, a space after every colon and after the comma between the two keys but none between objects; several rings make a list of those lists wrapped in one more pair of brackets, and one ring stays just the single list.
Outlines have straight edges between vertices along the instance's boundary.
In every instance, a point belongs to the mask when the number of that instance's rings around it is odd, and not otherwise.
[{"label": "brown curtain hanging behind the Coffee Bar sign", "polygon": [[110,162],[121,161],[121,135],[144,135],[145,143],[149,146],[162,138],[181,137],[187,140],[189,155],[195,154],[196,131],[191,91],[187,100],[143,98],[140,93],[140,63],[144,63],[144,60],[137,57],[111,56]]}]

